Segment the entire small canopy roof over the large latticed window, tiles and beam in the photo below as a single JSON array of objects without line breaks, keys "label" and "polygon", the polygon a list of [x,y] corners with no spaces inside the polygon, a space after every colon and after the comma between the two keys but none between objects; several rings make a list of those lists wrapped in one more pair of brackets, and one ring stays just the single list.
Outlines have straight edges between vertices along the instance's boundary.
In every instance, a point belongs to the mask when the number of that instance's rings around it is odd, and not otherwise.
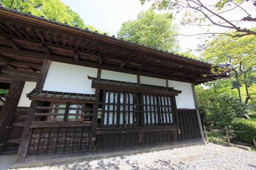
[{"label": "entire small canopy roof over the large latticed window, tiles and beam", "polygon": [[123,82],[110,79],[97,79],[95,77],[87,76],[92,80],[92,88],[101,88],[109,90],[121,90],[121,91],[134,91],[142,93],[155,93],[155,94],[168,94],[178,96],[182,91],[175,90],[173,88],[167,88],[158,85],[146,85],[134,82]]}]

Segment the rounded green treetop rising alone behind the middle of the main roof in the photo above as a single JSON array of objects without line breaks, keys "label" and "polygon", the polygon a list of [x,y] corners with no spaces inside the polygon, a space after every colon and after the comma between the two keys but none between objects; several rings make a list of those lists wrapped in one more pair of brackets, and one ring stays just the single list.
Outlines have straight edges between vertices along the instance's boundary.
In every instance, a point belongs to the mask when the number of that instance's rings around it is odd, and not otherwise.
[{"label": "rounded green treetop rising alone behind the middle of the main roof", "polygon": [[164,51],[179,51],[180,46],[174,35],[179,34],[179,27],[172,23],[172,14],[156,14],[152,10],[142,11],[137,20],[125,22],[117,37]]}]

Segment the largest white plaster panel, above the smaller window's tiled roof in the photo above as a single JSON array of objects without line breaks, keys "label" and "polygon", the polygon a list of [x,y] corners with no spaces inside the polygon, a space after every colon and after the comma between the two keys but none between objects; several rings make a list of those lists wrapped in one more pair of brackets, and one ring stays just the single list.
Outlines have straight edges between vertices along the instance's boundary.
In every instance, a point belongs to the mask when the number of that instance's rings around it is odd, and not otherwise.
[{"label": "largest white plaster panel, above the smaller window's tiled roof", "polygon": [[97,77],[98,69],[61,62],[51,62],[44,82],[45,91],[58,91],[80,94],[95,94],[92,81],[87,78]]}]

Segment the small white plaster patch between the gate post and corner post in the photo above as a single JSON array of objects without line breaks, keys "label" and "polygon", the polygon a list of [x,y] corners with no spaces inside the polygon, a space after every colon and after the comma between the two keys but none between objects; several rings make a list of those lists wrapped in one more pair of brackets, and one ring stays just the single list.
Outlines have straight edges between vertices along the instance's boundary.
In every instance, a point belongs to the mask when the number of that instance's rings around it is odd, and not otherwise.
[{"label": "small white plaster patch between the gate post and corner post", "polygon": [[35,86],[36,82],[25,82],[18,107],[30,107],[31,100],[26,97],[26,94],[30,93],[35,88]]}]

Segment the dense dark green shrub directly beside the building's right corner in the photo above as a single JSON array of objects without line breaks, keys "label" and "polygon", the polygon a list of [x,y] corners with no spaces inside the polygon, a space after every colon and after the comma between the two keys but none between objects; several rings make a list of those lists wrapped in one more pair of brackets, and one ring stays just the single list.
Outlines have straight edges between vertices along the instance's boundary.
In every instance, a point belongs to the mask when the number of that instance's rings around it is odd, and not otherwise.
[{"label": "dense dark green shrub directly beside the building's right corner", "polygon": [[217,88],[195,87],[203,125],[229,126],[231,122],[246,113],[240,99],[230,94],[218,94]]}]

